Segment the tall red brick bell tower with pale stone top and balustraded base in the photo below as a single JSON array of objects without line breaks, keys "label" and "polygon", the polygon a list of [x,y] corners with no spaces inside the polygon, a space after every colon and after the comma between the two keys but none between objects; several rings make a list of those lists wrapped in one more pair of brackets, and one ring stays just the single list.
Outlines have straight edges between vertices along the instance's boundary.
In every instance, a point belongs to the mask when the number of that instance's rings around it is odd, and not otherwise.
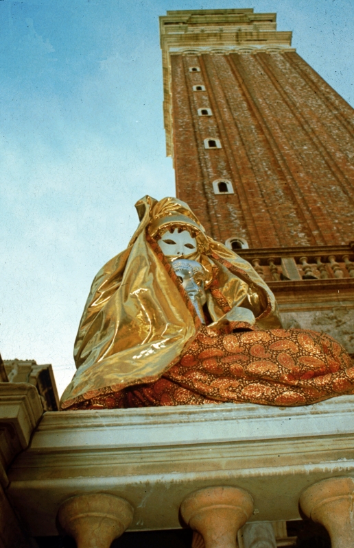
[{"label": "tall red brick bell tower with pale stone top and balustraded base", "polygon": [[176,195],[272,287],[285,324],[354,353],[354,110],[252,9],[160,18]]}]

